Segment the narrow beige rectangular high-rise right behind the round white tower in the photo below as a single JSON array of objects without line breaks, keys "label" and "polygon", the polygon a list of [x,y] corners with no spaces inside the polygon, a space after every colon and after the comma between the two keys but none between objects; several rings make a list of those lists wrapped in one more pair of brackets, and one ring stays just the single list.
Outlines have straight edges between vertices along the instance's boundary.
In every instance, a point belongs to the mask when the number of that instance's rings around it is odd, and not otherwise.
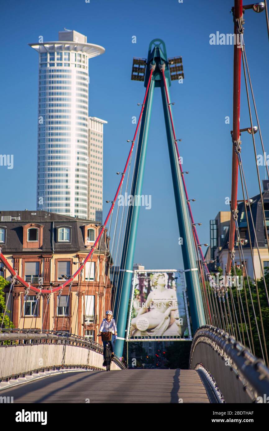
[{"label": "narrow beige rectangular high-rise right behind the round white tower", "polygon": [[103,125],[107,121],[89,117],[89,199],[88,218],[103,219]]}]

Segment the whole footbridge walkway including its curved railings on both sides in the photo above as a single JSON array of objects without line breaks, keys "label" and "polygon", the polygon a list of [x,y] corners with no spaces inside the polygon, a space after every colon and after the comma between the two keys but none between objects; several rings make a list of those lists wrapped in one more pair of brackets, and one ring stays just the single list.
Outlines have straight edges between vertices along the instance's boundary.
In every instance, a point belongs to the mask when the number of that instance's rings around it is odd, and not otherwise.
[{"label": "whole footbridge walkway including its curved railings on both sides", "polygon": [[269,395],[263,362],[209,325],[194,335],[188,370],[130,370],[116,357],[105,372],[102,352],[64,332],[3,332],[0,396],[14,403],[252,403]]}]

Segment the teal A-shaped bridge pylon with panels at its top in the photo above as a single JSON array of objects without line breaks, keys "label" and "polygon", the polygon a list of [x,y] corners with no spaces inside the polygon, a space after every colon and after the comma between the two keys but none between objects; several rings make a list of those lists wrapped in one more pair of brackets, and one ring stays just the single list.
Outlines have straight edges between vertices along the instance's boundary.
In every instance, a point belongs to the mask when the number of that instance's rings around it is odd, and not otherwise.
[{"label": "teal A-shaped bridge pylon with panels at its top", "polygon": [[[176,140],[173,134],[174,126],[168,90],[168,87],[171,86],[171,80],[178,80],[180,77],[184,77],[181,64],[181,57],[174,57],[174,59],[168,60],[165,43],[161,39],[154,39],[150,42],[147,60],[133,60],[132,79],[136,81],[144,81],[144,86],[147,88],[148,92],[144,103],[139,139],[137,143],[137,156],[131,185],[131,195],[135,197],[142,194],[153,94],[155,87],[160,87],[177,211],[177,222],[180,237],[182,238],[181,250],[183,254],[184,272],[190,304],[191,322],[193,331],[195,331],[199,326],[204,325],[206,322],[202,294],[199,285],[199,272],[197,268],[193,230],[181,178],[180,160],[176,150]],[[139,205],[128,206],[127,225],[123,239],[120,269],[116,281],[114,315],[116,316],[118,339],[115,345],[115,354],[119,357],[122,356],[126,333],[125,330],[130,287],[133,278],[133,259],[139,220],[139,208]]]}]

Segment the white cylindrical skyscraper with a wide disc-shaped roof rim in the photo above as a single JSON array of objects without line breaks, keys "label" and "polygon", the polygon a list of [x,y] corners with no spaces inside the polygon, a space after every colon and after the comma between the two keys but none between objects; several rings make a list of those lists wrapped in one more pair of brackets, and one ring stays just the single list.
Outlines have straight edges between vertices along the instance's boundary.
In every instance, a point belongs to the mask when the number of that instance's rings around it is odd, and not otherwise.
[{"label": "white cylindrical skyscraper with a wide disc-shaped roof rim", "polygon": [[92,218],[88,60],[104,48],[69,30],[29,45],[39,53],[37,208]]}]

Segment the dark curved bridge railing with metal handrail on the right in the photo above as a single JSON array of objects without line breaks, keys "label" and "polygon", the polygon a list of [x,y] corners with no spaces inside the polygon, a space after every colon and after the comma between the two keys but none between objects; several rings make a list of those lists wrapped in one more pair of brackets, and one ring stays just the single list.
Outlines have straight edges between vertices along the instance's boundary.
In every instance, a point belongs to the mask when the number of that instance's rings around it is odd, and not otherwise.
[{"label": "dark curved bridge railing with metal handrail on the right", "polygon": [[226,403],[257,403],[269,396],[269,369],[222,329],[198,328],[190,351],[190,369],[210,374]]}]

